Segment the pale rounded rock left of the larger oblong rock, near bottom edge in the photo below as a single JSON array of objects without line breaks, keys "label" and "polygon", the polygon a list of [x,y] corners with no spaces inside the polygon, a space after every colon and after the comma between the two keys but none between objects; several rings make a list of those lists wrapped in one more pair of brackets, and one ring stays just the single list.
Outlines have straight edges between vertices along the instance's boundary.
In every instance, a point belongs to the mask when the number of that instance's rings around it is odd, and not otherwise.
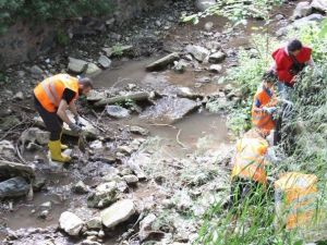
[{"label": "pale rounded rock left of the larger oblong rock, near bottom edge", "polygon": [[73,212],[62,212],[59,219],[60,229],[64,230],[69,235],[78,235],[83,228],[83,220],[81,220]]}]

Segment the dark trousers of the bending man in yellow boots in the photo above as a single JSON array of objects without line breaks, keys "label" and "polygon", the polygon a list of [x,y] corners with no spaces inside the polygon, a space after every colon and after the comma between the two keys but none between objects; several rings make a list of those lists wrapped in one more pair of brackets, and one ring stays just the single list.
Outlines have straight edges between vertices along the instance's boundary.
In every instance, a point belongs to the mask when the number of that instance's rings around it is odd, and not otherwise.
[{"label": "dark trousers of the bending man in yellow boots", "polygon": [[47,131],[50,132],[50,140],[59,140],[62,132],[62,120],[58,117],[57,112],[47,111],[40,102],[34,97],[35,109],[44,120]]}]

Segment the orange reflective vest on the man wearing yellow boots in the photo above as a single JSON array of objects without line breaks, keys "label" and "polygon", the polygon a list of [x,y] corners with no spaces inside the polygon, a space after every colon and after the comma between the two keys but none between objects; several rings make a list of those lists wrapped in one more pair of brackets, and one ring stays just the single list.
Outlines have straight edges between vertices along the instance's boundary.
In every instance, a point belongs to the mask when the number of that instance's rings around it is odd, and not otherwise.
[{"label": "orange reflective vest on the man wearing yellow boots", "polygon": [[74,99],[78,97],[78,79],[68,74],[58,74],[44,79],[35,87],[34,95],[47,111],[55,112],[65,88],[75,91]]}]

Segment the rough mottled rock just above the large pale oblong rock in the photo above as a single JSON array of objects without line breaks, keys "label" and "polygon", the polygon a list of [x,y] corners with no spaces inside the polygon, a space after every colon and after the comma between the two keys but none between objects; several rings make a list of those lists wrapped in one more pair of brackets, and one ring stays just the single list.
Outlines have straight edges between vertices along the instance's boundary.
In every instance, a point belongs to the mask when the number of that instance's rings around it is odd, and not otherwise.
[{"label": "rough mottled rock just above the large pale oblong rock", "polygon": [[87,207],[104,208],[114,203],[118,198],[117,182],[102,183],[96,187],[95,193],[87,198]]}]

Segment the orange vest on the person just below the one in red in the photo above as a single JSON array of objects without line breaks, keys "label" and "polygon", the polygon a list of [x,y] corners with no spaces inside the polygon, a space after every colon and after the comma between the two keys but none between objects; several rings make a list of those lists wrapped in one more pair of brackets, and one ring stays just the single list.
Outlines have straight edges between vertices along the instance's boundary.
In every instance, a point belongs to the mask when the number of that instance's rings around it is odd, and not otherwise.
[{"label": "orange vest on the person just below the one in red", "polygon": [[277,103],[276,97],[272,94],[270,96],[266,89],[261,88],[254,96],[253,106],[252,106],[252,123],[264,134],[269,134],[271,130],[275,128],[275,121],[271,114],[268,114],[264,111],[255,111],[257,108],[255,106],[255,101],[258,100],[261,102],[261,107],[275,107]]}]

